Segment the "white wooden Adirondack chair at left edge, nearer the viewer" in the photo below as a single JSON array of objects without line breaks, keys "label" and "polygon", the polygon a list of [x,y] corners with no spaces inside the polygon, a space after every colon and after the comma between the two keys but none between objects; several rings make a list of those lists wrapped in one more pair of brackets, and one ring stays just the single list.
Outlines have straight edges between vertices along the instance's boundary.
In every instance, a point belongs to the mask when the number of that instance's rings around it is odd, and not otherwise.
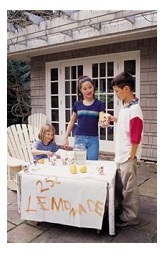
[{"label": "white wooden Adirondack chair at left edge, nearer the viewer", "polygon": [[16,124],[7,128],[7,186],[16,190],[16,174],[33,161],[32,145],[38,138],[38,131],[31,125]]}]

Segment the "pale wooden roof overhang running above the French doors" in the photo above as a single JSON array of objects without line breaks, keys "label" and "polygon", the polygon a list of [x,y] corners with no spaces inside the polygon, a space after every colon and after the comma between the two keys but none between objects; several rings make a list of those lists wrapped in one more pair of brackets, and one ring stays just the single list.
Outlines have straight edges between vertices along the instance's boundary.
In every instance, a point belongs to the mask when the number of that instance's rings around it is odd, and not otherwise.
[{"label": "pale wooden roof overhang running above the French doors", "polygon": [[156,11],[80,12],[72,19],[56,18],[8,32],[8,58],[29,61],[35,56],[157,36]]}]

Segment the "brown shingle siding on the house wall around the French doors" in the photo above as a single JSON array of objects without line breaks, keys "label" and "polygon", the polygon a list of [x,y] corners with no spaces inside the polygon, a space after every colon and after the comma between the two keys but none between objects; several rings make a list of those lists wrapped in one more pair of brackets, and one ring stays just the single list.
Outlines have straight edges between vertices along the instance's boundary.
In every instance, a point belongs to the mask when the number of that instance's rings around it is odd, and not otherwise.
[{"label": "brown shingle siding on the house wall around the French doors", "polygon": [[157,161],[157,38],[65,51],[31,59],[32,114],[46,114],[45,63],[140,50],[140,104],[144,114],[142,159]]}]

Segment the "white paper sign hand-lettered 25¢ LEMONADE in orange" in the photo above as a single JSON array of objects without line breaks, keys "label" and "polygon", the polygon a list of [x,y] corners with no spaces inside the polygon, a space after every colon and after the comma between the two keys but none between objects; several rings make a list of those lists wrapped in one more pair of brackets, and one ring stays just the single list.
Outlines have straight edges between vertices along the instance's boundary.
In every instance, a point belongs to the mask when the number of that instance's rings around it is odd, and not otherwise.
[{"label": "white paper sign hand-lettered 25\u00a2 LEMONADE in orange", "polygon": [[21,218],[101,229],[107,182],[23,175]]}]

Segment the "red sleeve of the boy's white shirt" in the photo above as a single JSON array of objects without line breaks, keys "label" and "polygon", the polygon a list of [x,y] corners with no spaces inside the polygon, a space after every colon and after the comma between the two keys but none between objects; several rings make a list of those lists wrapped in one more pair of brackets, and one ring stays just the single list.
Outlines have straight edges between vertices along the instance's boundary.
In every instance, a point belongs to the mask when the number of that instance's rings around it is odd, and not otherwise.
[{"label": "red sleeve of the boy's white shirt", "polygon": [[143,121],[139,117],[130,120],[131,144],[139,144],[142,137]]}]

